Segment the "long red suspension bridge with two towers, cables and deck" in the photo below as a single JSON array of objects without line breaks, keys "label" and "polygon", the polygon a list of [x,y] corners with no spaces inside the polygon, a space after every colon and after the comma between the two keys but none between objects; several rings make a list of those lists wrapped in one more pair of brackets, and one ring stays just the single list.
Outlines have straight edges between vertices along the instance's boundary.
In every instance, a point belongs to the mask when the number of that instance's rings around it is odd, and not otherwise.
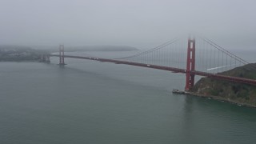
[{"label": "long red suspension bridge with two towers, cables and deck", "polygon": [[[255,79],[223,74],[224,71],[247,65],[249,62],[218,46],[208,38],[197,38],[197,41],[195,38],[174,38],[150,50],[123,58],[65,55],[64,46],[60,45],[59,54],[47,54],[42,56],[42,59],[44,62],[50,62],[50,57],[59,57],[59,65],[66,65],[64,58],[80,58],[182,73],[186,75],[186,91],[194,86],[195,75],[256,86]],[[256,67],[251,66],[250,69],[256,70]]]}]

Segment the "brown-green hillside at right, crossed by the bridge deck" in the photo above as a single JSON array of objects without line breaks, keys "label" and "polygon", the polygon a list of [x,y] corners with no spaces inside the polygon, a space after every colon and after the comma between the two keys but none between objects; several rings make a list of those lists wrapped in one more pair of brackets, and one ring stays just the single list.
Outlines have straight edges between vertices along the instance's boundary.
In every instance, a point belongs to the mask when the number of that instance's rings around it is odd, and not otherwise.
[{"label": "brown-green hillside at right, crossed by the bridge deck", "polygon": [[[256,80],[256,63],[234,68],[220,74]],[[232,102],[239,106],[256,107],[256,86],[215,78],[201,78],[190,90],[192,94]]]}]

